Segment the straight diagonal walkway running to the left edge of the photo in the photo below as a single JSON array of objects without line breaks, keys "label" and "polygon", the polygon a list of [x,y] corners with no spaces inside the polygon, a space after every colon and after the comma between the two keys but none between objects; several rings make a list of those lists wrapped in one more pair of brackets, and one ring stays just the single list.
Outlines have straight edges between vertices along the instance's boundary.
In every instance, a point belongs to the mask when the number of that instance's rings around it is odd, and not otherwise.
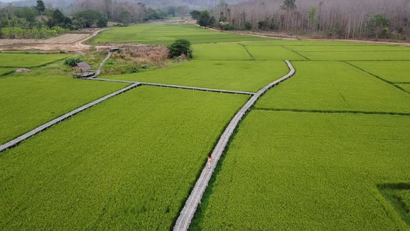
[{"label": "straight diagonal walkway running to the left edge of the photo", "polygon": [[58,122],[62,122],[63,120],[67,120],[67,118],[70,118],[77,113],[80,113],[81,111],[84,111],[85,109],[88,109],[92,106],[95,106],[96,104],[99,104],[103,102],[106,99],[110,99],[111,97],[114,97],[116,95],[120,95],[121,93],[124,93],[128,90],[131,90],[133,88],[136,88],[140,86],[140,83],[133,83],[130,86],[127,86],[125,88],[122,88],[120,90],[115,91],[114,93],[110,93],[104,97],[101,97],[93,102],[90,102],[88,104],[85,104],[84,106],[79,107],[78,109],[75,109],[73,111],[70,111],[69,113],[65,113],[63,116],[60,116],[58,118],[55,118],[54,120],[51,120],[49,122],[46,122],[44,125],[40,125],[39,127],[36,127],[35,129],[31,130],[30,132],[27,132],[26,134],[23,134],[22,136],[19,136],[13,141],[9,141],[8,143],[5,143],[3,145],[0,145],[0,152],[3,152],[4,150],[7,150],[8,148],[13,148],[15,145],[18,145],[22,141],[25,141],[27,138],[30,138],[31,136],[34,136],[35,134],[38,134],[39,132],[44,131],[45,129],[48,129],[49,127],[56,125]]}]

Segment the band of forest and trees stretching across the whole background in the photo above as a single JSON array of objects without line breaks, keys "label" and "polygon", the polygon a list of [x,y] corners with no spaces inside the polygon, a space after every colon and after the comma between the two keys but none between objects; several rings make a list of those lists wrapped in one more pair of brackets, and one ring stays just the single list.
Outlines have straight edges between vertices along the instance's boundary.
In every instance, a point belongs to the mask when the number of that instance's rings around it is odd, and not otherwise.
[{"label": "band of forest and trees stretching across the whole background", "polygon": [[48,38],[67,31],[191,15],[226,31],[273,31],[313,38],[407,40],[408,0],[70,0],[0,8],[0,38]]}]

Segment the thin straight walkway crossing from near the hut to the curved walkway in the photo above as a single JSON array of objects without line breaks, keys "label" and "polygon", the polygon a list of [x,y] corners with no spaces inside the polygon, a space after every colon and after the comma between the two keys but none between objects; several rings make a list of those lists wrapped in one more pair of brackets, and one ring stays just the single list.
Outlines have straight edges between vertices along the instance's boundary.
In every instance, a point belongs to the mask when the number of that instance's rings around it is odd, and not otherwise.
[{"label": "thin straight walkway crossing from near the hut to the curved walkway", "polygon": [[147,83],[147,82],[136,82],[136,81],[127,81],[127,80],[117,80],[117,79],[100,79],[100,78],[83,78],[87,80],[97,80],[97,81],[110,81],[110,82],[119,82],[119,83],[140,83],[143,86],[158,86],[163,88],[179,88],[179,89],[188,89],[188,90],[202,90],[202,91],[210,91],[215,93],[229,93],[229,94],[240,94],[240,95],[255,95],[256,93],[251,93],[247,91],[240,91],[240,90],[222,90],[222,89],[213,89],[213,88],[197,88],[197,87],[190,87],[190,86],[179,86],[179,85],[172,85],[172,84],[162,84],[162,83]]}]

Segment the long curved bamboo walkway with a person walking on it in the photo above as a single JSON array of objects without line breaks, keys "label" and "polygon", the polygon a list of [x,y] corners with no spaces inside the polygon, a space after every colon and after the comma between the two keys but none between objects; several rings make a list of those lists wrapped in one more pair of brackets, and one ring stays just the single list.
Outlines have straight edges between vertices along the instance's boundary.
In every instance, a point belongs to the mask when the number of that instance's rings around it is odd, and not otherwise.
[{"label": "long curved bamboo walkway with a person walking on it", "polygon": [[290,78],[295,74],[295,68],[293,68],[292,63],[289,61],[285,61],[286,64],[289,67],[289,72],[286,74],[284,77],[281,77],[280,79],[277,79],[273,81],[272,83],[269,83],[267,86],[261,88],[261,90],[258,91],[254,96],[249,99],[249,101],[236,113],[236,115],[232,118],[231,122],[229,122],[229,125],[227,128],[224,130],[224,133],[220,136],[220,139],[215,145],[215,148],[213,149],[212,152],[212,163],[211,166],[205,166],[204,169],[202,170],[201,175],[199,175],[199,178],[197,182],[195,183],[194,188],[190,192],[190,196],[188,197],[188,200],[186,200],[186,203],[181,210],[181,213],[179,214],[179,217],[177,218],[177,221],[174,225],[174,230],[178,231],[185,231],[188,230],[189,225],[192,221],[192,218],[197,211],[197,207],[199,203],[202,200],[202,196],[204,195],[204,192],[208,186],[209,180],[211,180],[211,176],[213,171],[215,170],[215,167],[218,164],[218,161],[224,152],[224,150],[227,148],[227,144],[229,143],[229,139],[233,135],[233,132],[235,131],[236,127],[238,127],[238,124],[240,120],[242,120],[243,116],[251,109],[251,107],[256,103],[256,101],[261,97],[267,90],[272,88],[273,86],[276,86],[277,84],[281,83],[282,81],[285,81],[286,79]]}]

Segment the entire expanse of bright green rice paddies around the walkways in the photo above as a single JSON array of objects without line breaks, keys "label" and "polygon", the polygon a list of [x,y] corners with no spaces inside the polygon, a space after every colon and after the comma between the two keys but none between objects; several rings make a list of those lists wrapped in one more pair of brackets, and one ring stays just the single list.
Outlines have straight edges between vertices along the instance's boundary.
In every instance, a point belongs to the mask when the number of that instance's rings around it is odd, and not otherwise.
[{"label": "entire expanse of bright green rice paddies around the walkways", "polygon": [[[288,72],[285,60],[296,70],[238,125],[190,230],[410,230],[409,47],[256,41],[266,39],[177,24],[115,28],[93,42],[176,38],[195,44],[194,60],[101,78],[256,92]],[[15,62],[5,55],[0,63]],[[13,67],[60,58],[44,57],[15,54],[31,61]],[[4,70],[0,145],[127,86],[56,65]],[[172,229],[248,99],[141,86],[0,152],[0,229]]]}]

